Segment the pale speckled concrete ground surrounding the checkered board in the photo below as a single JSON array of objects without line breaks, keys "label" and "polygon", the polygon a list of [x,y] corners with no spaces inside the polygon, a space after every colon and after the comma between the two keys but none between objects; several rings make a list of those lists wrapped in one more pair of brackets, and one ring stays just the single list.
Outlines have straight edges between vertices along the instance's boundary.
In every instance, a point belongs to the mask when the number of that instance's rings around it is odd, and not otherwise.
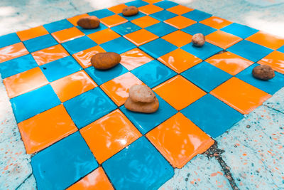
[{"label": "pale speckled concrete ground surrounding the checkered board", "polygon": [[[1,0],[0,36],[128,0]],[[284,37],[283,0],[176,0]],[[217,138],[160,189],[284,189],[284,88]],[[0,189],[36,189],[0,78]]]}]

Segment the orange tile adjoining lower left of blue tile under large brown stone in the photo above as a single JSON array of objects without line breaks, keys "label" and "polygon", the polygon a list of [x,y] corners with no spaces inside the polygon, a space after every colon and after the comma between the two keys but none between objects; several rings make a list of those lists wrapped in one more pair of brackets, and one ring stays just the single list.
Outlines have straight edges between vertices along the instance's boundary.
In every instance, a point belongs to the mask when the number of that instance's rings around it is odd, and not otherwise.
[{"label": "orange tile adjoining lower left of blue tile under large brown stone", "polygon": [[50,83],[61,102],[70,100],[97,86],[83,70]]}]

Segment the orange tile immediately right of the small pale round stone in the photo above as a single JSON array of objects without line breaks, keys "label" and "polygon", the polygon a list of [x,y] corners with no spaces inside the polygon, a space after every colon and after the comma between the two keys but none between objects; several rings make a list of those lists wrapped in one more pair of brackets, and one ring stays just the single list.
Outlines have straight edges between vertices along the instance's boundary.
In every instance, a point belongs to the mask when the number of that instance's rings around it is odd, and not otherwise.
[{"label": "orange tile immediately right of the small pale round stone", "polygon": [[226,49],[233,46],[235,43],[242,41],[243,39],[234,36],[231,33],[226,33],[224,31],[214,31],[206,36],[206,41],[219,46],[220,48]]}]

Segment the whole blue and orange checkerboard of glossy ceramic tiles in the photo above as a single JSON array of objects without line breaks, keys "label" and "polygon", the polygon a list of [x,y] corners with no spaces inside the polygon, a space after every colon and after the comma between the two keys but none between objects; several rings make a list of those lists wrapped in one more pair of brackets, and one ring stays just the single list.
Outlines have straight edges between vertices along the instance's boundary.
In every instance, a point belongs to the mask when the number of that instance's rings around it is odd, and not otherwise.
[{"label": "whole blue and orange checkerboard of glossy ceramic tiles", "polygon": [[[131,5],[139,13],[123,16]],[[77,26],[88,15],[98,28]],[[90,58],[108,51],[121,63],[95,69]],[[275,78],[253,78],[259,64]],[[283,88],[284,39],[138,0],[1,36],[0,73],[38,189],[157,189]],[[157,112],[126,110],[132,85],[152,88]]]}]

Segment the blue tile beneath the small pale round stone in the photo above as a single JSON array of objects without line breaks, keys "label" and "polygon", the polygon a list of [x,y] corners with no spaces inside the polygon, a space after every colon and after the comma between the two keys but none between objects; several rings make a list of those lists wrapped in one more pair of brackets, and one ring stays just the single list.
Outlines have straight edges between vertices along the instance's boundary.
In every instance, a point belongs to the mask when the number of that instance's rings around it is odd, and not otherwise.
[{"label": "blue tile beneath the small pale round stone", "polygon": [[208,42],[205,42],[204,46],[202,47],[193,46],[192,43],[188,43],[181,48],[182,50],[187,51],[188,53],[191,53],[192,55],[197,56],[202,60],[205,60],[223,50],[222,48],[214,46],[213,44]]}]

